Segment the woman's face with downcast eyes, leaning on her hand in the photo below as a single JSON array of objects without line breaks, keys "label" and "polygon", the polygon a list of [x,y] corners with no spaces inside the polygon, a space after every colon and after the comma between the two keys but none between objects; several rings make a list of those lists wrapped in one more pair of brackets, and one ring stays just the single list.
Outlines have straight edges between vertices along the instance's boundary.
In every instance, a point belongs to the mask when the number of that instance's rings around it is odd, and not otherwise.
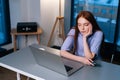
[{"label": "woman's face with downcast eyes, leaning on her hand", "polygon": [[80,17],[78,19],[78,29],[82,35],[92,32],[92,24],[85,18]]}]

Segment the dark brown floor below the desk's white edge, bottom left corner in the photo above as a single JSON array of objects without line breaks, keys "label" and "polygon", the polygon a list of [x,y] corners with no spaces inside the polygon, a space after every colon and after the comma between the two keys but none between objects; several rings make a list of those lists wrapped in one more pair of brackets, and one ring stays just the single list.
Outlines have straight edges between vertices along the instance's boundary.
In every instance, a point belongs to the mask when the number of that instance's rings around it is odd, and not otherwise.
[{"label": "dark brown floor below the desk's white edge, bottom left corner", "polygon": [[[21,80],[27,80],[27,77],[20,75]],[[0,67],[0,80],[17,80],[16,73],[6,68]],[[34,79],[29,79],[34,80]]]}]

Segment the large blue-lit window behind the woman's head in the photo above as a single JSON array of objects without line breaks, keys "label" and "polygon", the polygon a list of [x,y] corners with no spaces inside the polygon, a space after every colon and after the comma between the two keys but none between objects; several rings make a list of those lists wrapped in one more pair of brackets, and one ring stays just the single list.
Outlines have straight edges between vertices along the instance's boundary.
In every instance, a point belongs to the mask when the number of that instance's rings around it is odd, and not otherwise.
[{"label": "large blue-lit window behind the woman's head", "polygon": [[114,43],[118,0],[74,0],[72,26],[81,10],[91,11],[104,32],[105,42]]}]

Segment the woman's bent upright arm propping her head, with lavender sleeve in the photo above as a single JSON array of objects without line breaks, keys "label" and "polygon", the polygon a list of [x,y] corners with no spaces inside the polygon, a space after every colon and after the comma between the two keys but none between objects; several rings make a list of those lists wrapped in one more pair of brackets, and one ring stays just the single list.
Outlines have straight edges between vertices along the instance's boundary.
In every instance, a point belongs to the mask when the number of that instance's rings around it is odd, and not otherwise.
[{"label": "woman's bent upright arm propping her head, with lavender sleeve", "polygon": [[95,57],[95,54],[98,54],[102,39],[103,39],[103,33],[101,31],[97,31],[93,34],[92,43],[88,46],[87,42],[87,36],[83,37],[83,45],[84,45],[84,53],[85,57],[93,59]]}]

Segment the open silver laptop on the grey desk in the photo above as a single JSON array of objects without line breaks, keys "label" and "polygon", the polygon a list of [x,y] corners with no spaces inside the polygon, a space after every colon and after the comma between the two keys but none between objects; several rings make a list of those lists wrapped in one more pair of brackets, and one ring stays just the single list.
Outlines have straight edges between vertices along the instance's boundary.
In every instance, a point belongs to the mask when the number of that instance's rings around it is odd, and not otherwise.
[{"label": "open silver laptop on the grey desk", "polygon": [[83,67],[82,63],[61,57],[58,49],[38,44],[29,47],[37,64],[65,76],[70,76]]}]

